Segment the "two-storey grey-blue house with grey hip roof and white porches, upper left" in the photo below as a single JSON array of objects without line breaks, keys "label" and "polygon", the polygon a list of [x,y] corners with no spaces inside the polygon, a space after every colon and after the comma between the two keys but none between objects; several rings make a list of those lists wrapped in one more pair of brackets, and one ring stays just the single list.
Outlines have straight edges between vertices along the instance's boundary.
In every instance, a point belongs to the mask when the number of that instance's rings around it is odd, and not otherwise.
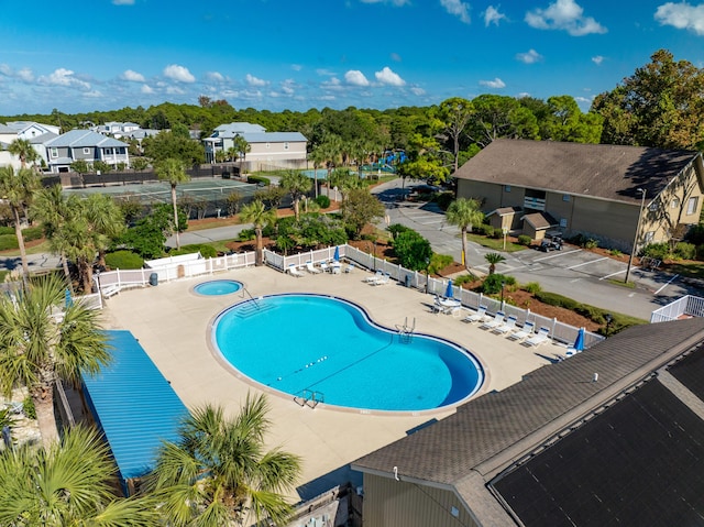
[{"label": "two-storey grey-blue house with grey hip roof and white porches, upper left", "polygon": [[127,143],[90,130],[72,130],[50,140],[45,146],[46,163],[54,173],[69,172],[70,164],[78,160],[87,163],[102,161],[112,166],[130,164]]}]

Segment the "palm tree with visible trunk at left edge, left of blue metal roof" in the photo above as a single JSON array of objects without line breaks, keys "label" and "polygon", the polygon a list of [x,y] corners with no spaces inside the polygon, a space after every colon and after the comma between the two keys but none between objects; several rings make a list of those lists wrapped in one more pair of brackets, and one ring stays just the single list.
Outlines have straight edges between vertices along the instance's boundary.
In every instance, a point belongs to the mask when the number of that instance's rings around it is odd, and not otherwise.
[{"label": "palm tree with visible trunk at left edge, left of blue metal roof", "polygon": [[0,391],[28,387],[45,444],[57,437],[56,378],[78,384],[81,372],[98,373],[111,359],[98,311],[76,301],[54,316],[65,289],[52,274],[32,279],[15,297],[0,295]]}]

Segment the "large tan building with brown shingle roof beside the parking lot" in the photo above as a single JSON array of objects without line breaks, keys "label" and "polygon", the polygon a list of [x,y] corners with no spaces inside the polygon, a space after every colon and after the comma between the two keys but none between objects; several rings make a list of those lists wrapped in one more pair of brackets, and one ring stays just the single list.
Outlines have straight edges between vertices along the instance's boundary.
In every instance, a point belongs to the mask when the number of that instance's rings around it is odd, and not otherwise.
[{"label": "large tan building with brown shingle roof beside the parking lot", "polygon": [[681,238],[698,223],[704,193],[701,153],[609,144],[499,139],[455,176],[458,197],[481,200],[495,227],[627,252]]}]

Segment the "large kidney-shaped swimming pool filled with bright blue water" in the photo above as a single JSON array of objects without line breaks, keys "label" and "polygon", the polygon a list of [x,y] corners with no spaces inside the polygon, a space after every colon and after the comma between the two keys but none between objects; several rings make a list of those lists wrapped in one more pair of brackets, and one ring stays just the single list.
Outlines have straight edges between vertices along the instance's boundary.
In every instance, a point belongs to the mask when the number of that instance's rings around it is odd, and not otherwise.
[{"label": "large kidney-shaped swimming pool filled with bright blue water", "polygon": [[250,378],[328,405],[417,411],[474,394],[484,373],[449,341],[374,325],[354,304],[317,295],[274,295],[221,312],[212,343]]}]

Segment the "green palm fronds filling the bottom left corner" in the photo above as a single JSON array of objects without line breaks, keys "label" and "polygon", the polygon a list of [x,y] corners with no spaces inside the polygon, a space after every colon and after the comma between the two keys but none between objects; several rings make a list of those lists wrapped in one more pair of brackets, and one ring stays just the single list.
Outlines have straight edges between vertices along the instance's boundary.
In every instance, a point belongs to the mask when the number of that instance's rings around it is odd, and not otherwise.
[{"label": "green palm fronds filling the bottom left corner", "polygon": [[95,429],[67,430],[48,448],[7,449],[0,453],[0,524],[160,525],[152,498],[114,495],[114,473],[108,446]]}]

